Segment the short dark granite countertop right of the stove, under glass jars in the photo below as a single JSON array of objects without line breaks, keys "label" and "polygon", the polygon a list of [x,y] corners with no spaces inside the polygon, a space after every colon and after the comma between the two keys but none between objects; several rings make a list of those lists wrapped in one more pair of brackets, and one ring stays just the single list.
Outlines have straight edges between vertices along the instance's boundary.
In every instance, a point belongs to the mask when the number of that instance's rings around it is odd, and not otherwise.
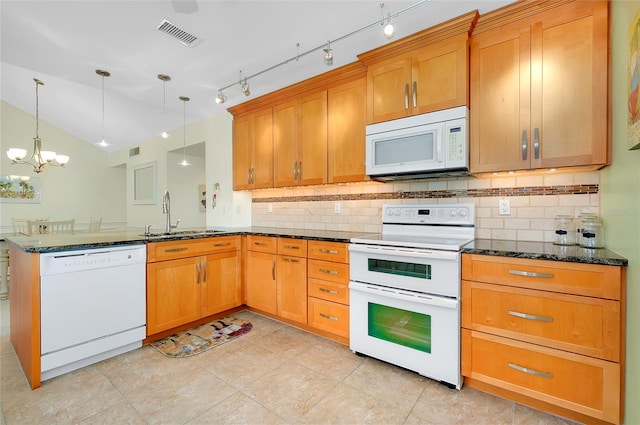
[{"label": "short dark granite countertop right of the stove, under glass jars", "polygon": [[476,239],[462,248],[462,253],[609,266],[627,266],[629,264],[629,260],[606,248],[581,248],[578,245],[554,245],[551,242]]}]

